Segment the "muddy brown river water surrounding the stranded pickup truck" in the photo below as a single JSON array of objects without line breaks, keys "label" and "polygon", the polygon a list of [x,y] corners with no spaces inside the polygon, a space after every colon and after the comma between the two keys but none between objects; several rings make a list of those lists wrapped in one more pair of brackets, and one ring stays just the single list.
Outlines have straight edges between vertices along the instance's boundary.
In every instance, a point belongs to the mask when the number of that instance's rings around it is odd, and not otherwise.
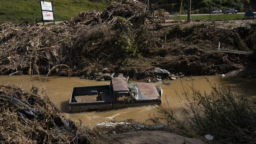
[{"label": "muddy brown river water surrounding the stranded pickup truck", "polygon": [[[38,76],[33,75],[34,84],[42,88],[41,83],[38,79]],[[256,79],[246,79],[246,78],[231,78],[231,77],[220,77],[220,76],[207,76],[208,80],[211,83],[221,85],[226,87],[231,85],[232,88],[238,93],[241,93],[248,99],[255,101],[256,100]],[[44,83],[45,76],[41,76],[42,82]],[[194,76],[194,77],[184,77],[181,80],[167,80],[162,83],[155,83],[156,85],[161,85],[163,90],[162,95],[162,104],[168,105],[176,111],[177,116],[180,115],[181,110],[181,100],[176,95],[177,93],[182,92],[182,85],[191,85],[193,83],[197,90],[200,92],[210,92],[211,88],[209,83],[203,78],[203,76]],[[140,82],[140,81],[138,81]],[[0,83],[4,85],[16,85],[21,89],[30,90],[31,89],[31,77],[30,75],[0,75]],[[96,123],[102,121],[110,121],[112,119],[124,120],[124,119],[136,119],[139,122],[145,122],[149,115],[156,115],[158,113],[157,108],[154,105],[149,106],[140,106],[140,107],[131,107],[123,108],[118,110],[109,110],[109,111],[92,111],[92,112],[83,112],[83,113],[68,113],[68,101],[72,87],[79,86],[88,86],[88,85],[107,85],[110,81],[95,81],[80,79],[79,77],[48,77],[46,80],[46,90],[47,93],[56,105],[61,113],[66,116],[66,118],[71,118],[73,120],[81,120],[86,125],[93,126]],[[167,102],[168,101],[168,102]],[[168,103],[168,104],[167,104]]]}]

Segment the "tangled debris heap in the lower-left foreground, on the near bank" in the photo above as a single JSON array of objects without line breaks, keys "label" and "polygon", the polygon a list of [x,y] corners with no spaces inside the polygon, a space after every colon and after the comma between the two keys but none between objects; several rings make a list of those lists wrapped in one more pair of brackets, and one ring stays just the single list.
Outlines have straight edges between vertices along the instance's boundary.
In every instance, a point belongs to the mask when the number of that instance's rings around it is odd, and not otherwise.
[{"label": "tangled debris heap in the lower-left foreground, on the near bank", "polygon": [[[64,119],[38,88],[25,92],[0,85],[0,141],[3,143],[86,142],[86,129]],[[83,131],[83,133],[81,133]]]}]

